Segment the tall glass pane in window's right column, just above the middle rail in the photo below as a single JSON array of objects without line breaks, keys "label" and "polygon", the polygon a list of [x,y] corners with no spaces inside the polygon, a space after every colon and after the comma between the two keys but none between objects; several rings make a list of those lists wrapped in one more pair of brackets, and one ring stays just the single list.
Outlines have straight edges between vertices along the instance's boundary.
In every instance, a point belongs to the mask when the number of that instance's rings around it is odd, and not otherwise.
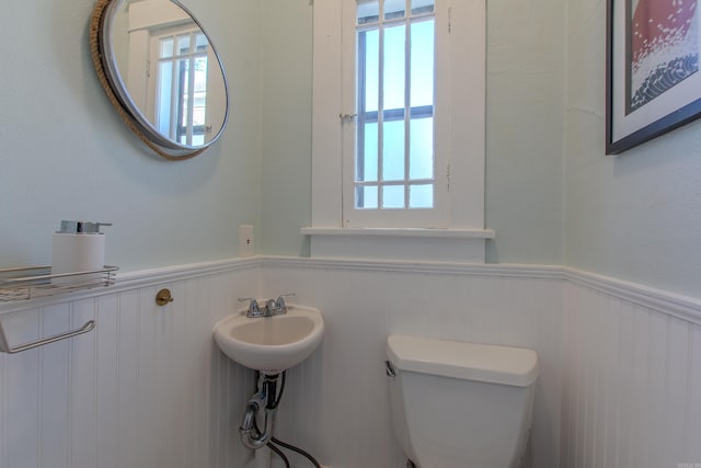
[{"label": "tall glass pane in window's right column, just above the middle rail", "polygon": [[434,21],[412,24],[411,106],[434,103]]}]

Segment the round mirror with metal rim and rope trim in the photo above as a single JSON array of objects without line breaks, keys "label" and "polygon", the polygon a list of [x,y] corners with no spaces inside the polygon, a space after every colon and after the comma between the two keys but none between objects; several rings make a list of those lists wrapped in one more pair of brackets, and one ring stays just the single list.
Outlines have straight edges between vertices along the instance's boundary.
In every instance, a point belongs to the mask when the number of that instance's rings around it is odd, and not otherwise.
[{"label": "round mirror with metal rim and rope trim", "polygon": [[156,152],[187,159],[219,138],[229,114],[223,67],[176,0],[97,0],[90,43],[107,96]]}]

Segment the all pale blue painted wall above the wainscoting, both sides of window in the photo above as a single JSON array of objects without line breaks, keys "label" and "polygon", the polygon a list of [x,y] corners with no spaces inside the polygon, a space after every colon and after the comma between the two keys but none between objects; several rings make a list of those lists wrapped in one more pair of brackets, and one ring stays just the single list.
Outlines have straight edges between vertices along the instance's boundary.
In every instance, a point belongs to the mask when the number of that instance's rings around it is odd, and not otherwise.
[{"label": "all pale blue painted wall above the wainscoting, both sides of window", "polygon": [[[46,263],[62,218],[108,220],[124,270],[304,255],[309,0],[188,0],[225,61],[233,116],[204,156],[151,156],[92,70],[92,0],[10,2],[0,32],[0,264]],[[699,296],[701,124],[604,156],[605,4],[487,3],[487,259],[567,264]]]}]

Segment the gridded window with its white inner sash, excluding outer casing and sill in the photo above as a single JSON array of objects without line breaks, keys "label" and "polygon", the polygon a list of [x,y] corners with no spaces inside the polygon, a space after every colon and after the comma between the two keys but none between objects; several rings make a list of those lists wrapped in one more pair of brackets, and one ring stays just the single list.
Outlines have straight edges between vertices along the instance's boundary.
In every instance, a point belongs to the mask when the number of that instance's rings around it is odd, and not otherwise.
[{"label": "gridded window with its white inner sash, excluding outer casing and sill", "polygon": [[355,119],[343,127],[354,135],[343,148],[343,226],[446,227],[448,162],[435,147],[436,2],[349,3],[342,41],[354,53],[343,69],[353,87],[343,92],[353,93]]}]

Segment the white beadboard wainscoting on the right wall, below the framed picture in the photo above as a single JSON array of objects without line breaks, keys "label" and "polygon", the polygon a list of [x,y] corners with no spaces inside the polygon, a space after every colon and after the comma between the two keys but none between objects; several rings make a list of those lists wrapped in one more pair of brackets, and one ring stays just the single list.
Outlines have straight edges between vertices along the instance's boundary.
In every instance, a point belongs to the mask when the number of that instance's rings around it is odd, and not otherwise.
[{"label": "white beadboard wainscoting on the right wall, below the framed picture", "polygon": [[701,301],[566,276],[561,466],[701,466]]}]

